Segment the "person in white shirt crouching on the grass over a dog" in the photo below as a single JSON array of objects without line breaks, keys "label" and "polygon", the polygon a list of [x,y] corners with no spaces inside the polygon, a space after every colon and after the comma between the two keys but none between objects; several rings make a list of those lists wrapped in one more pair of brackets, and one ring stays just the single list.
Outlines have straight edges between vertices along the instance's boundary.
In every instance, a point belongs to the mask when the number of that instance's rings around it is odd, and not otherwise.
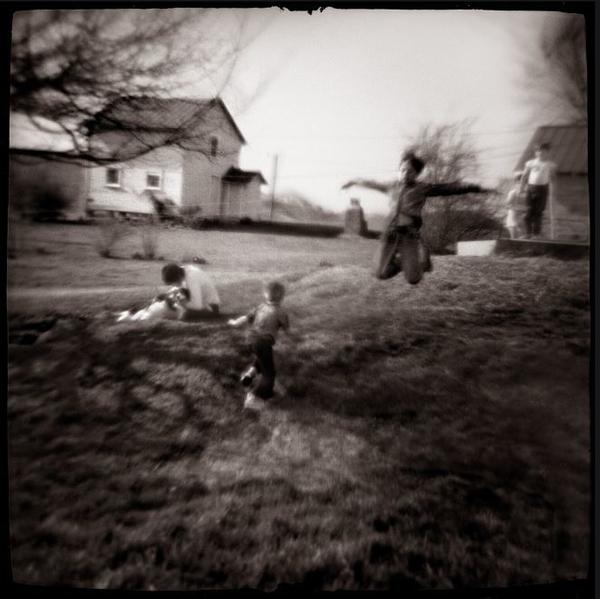
[{"label": "person in white shirt crouching on the grass over a dog", "polygon": [[177,285],[187,289],[190,298],[185,305],[184,318],[194,313],[210,310],[219,313],[221,300],[212,279],[196,264],[180,266],[170,262],[163,266],[162,279],[167,285]]}]

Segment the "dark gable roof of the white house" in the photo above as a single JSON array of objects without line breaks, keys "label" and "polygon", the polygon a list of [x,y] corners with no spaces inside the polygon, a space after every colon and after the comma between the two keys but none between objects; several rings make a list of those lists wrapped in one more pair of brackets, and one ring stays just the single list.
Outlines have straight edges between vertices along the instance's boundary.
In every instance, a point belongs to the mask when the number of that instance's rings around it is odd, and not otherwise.
[{"label": "dark gable roof of the white house", "polygon": [[177,131],[193,127],[206,116],[208,110],[217,106],[232,126],[240,141],[245,144],[231,113],[219,97],[210,99],[190,98],[151,98],[147,96],[129,96],[116,99],[104,108],[92,122],[92,132],[99,133],[115,129],[150,129],[153,132]]}]

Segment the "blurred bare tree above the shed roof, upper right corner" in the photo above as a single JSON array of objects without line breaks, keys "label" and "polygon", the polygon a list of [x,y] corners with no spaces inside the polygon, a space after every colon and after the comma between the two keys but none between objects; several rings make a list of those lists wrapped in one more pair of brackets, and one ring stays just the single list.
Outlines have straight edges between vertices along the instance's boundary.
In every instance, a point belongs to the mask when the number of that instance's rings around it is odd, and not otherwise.
[{"label": "blurred bare tree above the shed roof, upper right corner", "polygon": [[585,18],[553,14],[524,62],[525,92],[557,120],[587,124]]}]

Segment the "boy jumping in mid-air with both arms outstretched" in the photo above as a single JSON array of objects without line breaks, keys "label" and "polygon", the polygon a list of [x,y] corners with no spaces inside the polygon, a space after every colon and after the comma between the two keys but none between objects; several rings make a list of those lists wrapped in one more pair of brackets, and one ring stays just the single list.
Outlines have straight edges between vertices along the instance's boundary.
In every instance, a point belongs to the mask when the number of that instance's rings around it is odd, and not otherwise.
[{"label": "boy jumping in mid-air with both arms outstretched", "polygon": [[346,189],[360,185],[390,195],[392,210],[385,222],[376,257],[375,276],[378,279],[389,279],[403,270],[406,280],[414,285],[423,278],[424,272],[432,269],[429,248],[420,239],[421,212],[427,198],[486,191],[479,185],[418,181],[424,167],[423,159],[413,151],[407,151],[400,161],[396,181],[380,183],[353,179],[342,186]]}]

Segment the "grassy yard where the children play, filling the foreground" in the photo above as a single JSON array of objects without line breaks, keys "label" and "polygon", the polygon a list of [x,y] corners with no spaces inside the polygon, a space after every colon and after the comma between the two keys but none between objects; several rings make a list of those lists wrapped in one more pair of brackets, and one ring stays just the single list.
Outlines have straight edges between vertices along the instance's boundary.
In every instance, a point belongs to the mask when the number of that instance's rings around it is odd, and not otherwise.
[{"label": "grassy yard where the children play, filling the foreground", "polygon": [[287,393],[257,417],[241,410],[244,333],[115,324],[162,264],[129,260],[135,237],[101,259],[94,234],[31,228],[9,261],[16,581],[402,590],[586,575],[587,262],[444,256],[411,287],[371,277],[369,240],[161,233],[165,259],[207,260],[226,315],[260,301],[265,276],[286,282],[301,340],[278,341]]}]

